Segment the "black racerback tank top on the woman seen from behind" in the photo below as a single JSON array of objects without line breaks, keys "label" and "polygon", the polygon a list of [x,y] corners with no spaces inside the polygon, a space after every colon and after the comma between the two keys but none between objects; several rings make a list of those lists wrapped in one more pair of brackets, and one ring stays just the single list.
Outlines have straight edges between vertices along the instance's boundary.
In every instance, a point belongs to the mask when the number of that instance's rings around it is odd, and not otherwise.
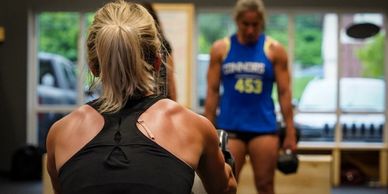
[{"label": "black racerback tank top on the woman seen from behind", "polygon": [[131,100],[117,113],[102,114],[103,129],[60,168],[61,194],[191,193],[194,170],[136,126],[161,98]]}]

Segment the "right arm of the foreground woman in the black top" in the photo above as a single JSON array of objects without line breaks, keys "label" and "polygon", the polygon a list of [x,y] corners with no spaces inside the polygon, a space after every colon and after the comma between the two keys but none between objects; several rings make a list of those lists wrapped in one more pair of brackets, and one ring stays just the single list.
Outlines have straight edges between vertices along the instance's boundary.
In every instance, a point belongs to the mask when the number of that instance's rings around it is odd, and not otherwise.
[{"label": "right arm of the foreground woman in the black top", "polygon": [[219,140],[216,129],[206,121],[203,132],[204,150],[197,168],[197,174],[209,194],[236,193],[237,182],[231,167],[225,163],[224,157],[218,147]]}]

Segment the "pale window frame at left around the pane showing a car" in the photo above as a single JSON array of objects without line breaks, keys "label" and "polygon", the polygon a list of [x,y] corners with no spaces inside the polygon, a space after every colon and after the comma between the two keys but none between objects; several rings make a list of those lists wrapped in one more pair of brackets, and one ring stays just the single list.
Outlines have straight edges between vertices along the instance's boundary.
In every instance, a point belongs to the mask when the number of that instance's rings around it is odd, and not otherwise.
[{"label": "pale window frame at left around the pane showing a car", "polygon": [[[77,41],[77,62],[76,62],[76,88],[77,100],[74,105],[41,105],[38,103],[37,96],[37,82],[36,78],[39,76],[38,72],[38,15],[43,12],[69,12],[79,14],[79,34]],[[37,10],[28,12],[28,42],[30,43],[27,53],[27,138],[28,144],[39,144],[39,128],[38,128],[38,114],[41,113],[62,113],[67,114],[73,111],[78,106],[84,103],[84,81],[86,79],[85,71],[87,70],[86,62],[86,34],[87,21],[86,15],[90,12],[85,11],[59,11],[59,10]],[[68,70],[66,70],[68,71]]]}]

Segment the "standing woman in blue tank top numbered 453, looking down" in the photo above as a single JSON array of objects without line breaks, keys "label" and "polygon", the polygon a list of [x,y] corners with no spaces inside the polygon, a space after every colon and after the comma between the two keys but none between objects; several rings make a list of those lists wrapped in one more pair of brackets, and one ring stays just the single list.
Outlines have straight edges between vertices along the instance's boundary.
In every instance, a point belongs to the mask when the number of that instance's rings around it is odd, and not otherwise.
[{"label": "standing woman in blue tank top numbered 453, looking down", "polygon": [[205,116],[228,131],[236,177],[249,155],[258,192],[272,194],[279,145],[271,97],[274,83],[286,125],[283,148],[296,151],[287,54],[264,34],[261,0],[237,1],[234,19],[237,33],[216,41],[210,52]]}]

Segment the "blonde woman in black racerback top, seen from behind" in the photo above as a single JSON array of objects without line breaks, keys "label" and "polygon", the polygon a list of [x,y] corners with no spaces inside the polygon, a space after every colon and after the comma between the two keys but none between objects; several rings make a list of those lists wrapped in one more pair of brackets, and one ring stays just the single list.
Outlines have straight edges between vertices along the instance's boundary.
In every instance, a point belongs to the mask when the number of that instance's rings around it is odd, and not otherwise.
[{"label": "blonde woman in black racerback top, seen from behind", "polygon": [[87,46],[103,91],[49,131],[56,194],[190,194],[195,172],[208,193],[236,193],[209,120],[158,93],[161,41],[144,7],[106,4]]}]

